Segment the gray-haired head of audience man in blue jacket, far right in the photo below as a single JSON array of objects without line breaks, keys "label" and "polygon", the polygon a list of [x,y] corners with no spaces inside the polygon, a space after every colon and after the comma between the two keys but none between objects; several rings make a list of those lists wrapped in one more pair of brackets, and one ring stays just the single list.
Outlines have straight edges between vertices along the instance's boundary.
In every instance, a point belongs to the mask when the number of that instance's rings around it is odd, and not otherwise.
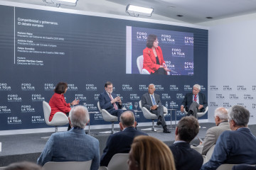
[{"label": "gray-haired head of audience man in blue jacket, far right", "polygon": [[228,119],[231,124],[235,123],[233,125],[235,127],[246,127],[249,123],[250,112],[243,106],[235,105],[228,110]]}]

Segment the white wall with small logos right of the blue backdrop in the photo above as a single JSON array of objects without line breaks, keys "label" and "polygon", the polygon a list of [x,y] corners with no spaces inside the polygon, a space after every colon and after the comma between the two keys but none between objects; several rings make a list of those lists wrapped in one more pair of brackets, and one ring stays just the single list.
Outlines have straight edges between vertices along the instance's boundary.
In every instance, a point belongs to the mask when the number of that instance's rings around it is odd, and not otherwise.
[{"label": "white wall with small logos right of the blue backdrop", "polygon": [[256,13],[199,23],[209,28],[208,120],[217,107],[240,104],[256,123]]}]

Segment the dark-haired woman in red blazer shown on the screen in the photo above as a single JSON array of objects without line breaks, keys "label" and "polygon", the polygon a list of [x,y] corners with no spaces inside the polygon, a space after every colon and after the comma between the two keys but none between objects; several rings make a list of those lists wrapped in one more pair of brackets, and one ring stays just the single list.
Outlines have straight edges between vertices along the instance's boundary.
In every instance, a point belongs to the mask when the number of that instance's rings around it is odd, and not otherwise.
[{"label": "dark-haired woman in red blazer shown on the screen", "polygon": [[146,48],[143,50],[143,69],[146,69],[149,74],[167,74],[170,70],[164,62],[161,47],[157,36],[150,34],[146,40]]}]

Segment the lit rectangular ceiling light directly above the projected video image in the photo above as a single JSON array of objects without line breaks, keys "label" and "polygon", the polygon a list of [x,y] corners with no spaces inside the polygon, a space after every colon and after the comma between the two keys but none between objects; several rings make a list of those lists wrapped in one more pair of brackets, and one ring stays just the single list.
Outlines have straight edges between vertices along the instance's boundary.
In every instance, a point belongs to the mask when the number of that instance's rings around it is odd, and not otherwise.
[{"label": "lit rectangular ceiling light directly above the projected video image", "polygon": [[145,8],[142,6],[134,6],[134,5],[127,5],[126,13],[129,14],[129,16],[152,16],[154,9],[153,8]]}]

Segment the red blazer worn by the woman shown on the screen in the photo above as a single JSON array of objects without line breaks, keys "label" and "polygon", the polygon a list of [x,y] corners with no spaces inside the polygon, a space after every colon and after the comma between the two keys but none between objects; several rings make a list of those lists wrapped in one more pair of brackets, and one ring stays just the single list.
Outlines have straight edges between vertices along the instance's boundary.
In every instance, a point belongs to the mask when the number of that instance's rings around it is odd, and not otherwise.
[{"label": "red blazer worn by the woman shown on the screen", "polygon": [[[162,65],[164,62],[163,53],[161,51],[161,47],[156,48],[156,55],[159,57],[159,63]],[[154,56],[154,52],[151,48],[146,47],[143,50],[143,69],[149,71],[149,73],[154,73],[156,70],[159,69],[160,65],[156,64],[156,57]]]}]

